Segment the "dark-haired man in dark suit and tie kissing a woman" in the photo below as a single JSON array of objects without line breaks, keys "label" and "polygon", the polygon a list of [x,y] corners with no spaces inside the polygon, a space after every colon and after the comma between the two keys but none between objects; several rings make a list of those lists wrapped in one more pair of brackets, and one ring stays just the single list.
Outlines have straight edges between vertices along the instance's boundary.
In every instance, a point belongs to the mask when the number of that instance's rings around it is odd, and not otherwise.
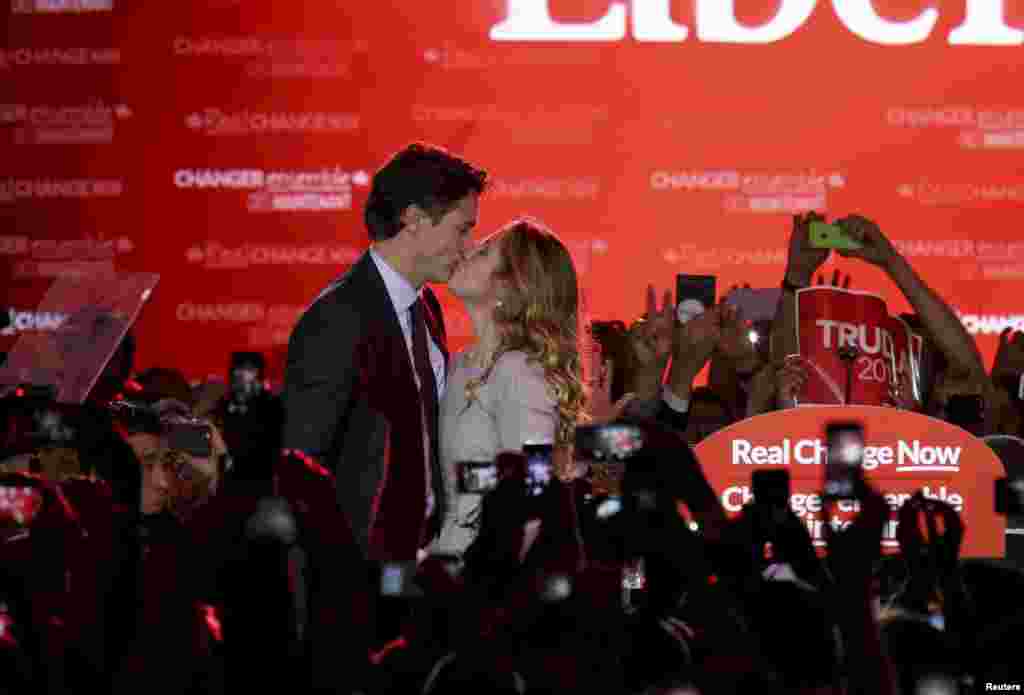
[{"label": "dark-haired man in dark suit and tie kissing a woman", "polygon": [[374,176],[370,250],[325,289],[292,333],[285,448],[336,476],[368,560],[413,561],[445,509],[437,404],[447,349],[437,298],[476,224],[486,173],[412,144]]}]

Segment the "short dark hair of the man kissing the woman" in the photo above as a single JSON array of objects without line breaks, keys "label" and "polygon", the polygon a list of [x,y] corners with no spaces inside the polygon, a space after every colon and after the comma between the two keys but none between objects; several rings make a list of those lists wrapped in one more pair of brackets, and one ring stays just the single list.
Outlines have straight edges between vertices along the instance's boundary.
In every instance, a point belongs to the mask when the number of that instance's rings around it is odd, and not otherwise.
[{"label": "short dark hair of the man kissing the woman", "polygon": [[470,193],[481,193],[487,173],[447,150],[414,142],[374,175],[364,211],[371,241],[383,242],[401,231],[401,213],[415,205],[434,222]]}]

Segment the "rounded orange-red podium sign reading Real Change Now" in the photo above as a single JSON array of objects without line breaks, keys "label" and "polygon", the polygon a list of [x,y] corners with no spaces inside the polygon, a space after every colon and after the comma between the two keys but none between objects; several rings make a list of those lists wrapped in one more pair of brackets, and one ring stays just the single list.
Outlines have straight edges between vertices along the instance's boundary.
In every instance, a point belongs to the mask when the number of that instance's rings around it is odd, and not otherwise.
[{"label": "rounded orange-red podium sign reading Real Change Now", "polygon": [[708,437],[695,452],[729,514],[753,501],[754,471],[788,471],[790,506],[815,545],[823,547],[824,524],[841,528],[859,511],[856,502],[846,501],[829,518],[823,512],[825,427],[830,422],[857,422],[864,428],[864,475],[891,510],[884,552],[899,551],[896,513],[922,490],[959,514],[963,557],[1004,557],[1007,524],[995,513],[994,491],[995,480],[1006,475],[1002,464],[982,440],[942,421],[889,407],[807,406],[744,420]]}]

